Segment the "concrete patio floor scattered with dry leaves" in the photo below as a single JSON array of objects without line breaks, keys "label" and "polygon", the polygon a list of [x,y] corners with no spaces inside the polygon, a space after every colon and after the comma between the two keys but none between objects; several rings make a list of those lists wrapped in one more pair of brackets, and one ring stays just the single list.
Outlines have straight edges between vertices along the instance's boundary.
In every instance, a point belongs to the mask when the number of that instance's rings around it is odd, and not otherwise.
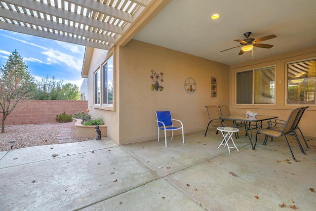
[{"label": "concrete patio floor scattered with dry leaves", "polygon": [[[107,137],[0,152],[1,211],[290,211],[316,209],[316,138],[217,148],[216,128],[118,146]],[[233,136],[234,137],[234,136]],[[300,137],[301,138],[301,137]],[[300,139],[301,140],[301,139]],[[289,160],[286,163],[285,160]],[[279,205],[285,204],[285,208]]]}]

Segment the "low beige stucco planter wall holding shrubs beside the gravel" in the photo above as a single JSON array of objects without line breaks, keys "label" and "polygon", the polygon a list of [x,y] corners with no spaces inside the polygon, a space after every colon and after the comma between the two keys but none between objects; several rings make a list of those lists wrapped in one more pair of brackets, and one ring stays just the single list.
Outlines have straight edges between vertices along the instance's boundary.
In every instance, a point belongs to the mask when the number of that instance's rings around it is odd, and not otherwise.
[{"label": "low beige stucco planter wall holding shrubs beside the gravel", "polygon": [[[85,137],[85,138],[95,138],[95,126],[83,126],[81,124],[81,119],[73,118],[73,127],[76,129],[76,136],[77,137]],[[107,129],[106,125],[100,126],[101,136],[107,136]]]}]

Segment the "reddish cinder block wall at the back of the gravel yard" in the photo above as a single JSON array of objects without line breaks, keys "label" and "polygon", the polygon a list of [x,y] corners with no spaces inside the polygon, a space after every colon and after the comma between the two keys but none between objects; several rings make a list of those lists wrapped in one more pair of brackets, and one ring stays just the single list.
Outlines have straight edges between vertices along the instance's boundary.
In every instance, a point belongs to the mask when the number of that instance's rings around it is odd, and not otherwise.
[{"label": "reddish cinder block wall at the back of the gravel yard", "polygon": [[[5,125],[56,123],[56,115],[66,112],[86,112],[88,101],[82,100],[25,100],[5,120]],[[2,118],[2,117],[1,117]]]}]

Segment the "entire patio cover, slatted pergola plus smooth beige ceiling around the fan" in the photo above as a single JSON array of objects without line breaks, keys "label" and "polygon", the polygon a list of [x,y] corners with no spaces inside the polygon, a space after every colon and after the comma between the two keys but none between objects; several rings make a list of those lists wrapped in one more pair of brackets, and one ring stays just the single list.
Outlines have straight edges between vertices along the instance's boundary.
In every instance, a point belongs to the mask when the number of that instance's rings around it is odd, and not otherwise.
[{"label": "entire patio cover, slatted pergola plus smooth beige ceiling around the fan", "polygon": [[[0,0],[0,29],[105,50],[135,39],[233,65],[316,46],[315,8],[316,0]],[[274,47],[238,55],[234,40],[245,32],[276,35],[262,42]]]}]

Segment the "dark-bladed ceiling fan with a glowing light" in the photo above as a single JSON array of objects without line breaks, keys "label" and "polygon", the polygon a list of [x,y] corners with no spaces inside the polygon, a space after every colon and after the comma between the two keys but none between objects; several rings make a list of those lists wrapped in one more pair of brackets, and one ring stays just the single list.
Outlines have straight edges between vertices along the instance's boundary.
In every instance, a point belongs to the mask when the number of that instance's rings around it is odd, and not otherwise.
[{"label": "dark-bladed ceiling fan with a glowing light", "polygon": [[[262,37],[259,39],[254,39],[254,38],[249,38],[251,32],[246,32],[243,35],[246,37],[246,39],[244,40],[234,40],[237,42],[240,42],[240,45],[236,46],[236,47],[240,47],[241,46],[241,50],[239,51],[238,55],[242,55],[244,52],[252,50],[253,47],[263,47],[263,48],[272,48],[273,45],[272,44],[262,44],[262,43],[258,43],[258,42],[262,42],[262,41],[266,41],[266,40],[270,40],[272,38],[276,38],[276,35],[269,35],[266,37]],[[236,47],[231,47],[228,48],[226,50],[230,50]],[[223,52],[225,50],[222,50],[221,52]]]}]

